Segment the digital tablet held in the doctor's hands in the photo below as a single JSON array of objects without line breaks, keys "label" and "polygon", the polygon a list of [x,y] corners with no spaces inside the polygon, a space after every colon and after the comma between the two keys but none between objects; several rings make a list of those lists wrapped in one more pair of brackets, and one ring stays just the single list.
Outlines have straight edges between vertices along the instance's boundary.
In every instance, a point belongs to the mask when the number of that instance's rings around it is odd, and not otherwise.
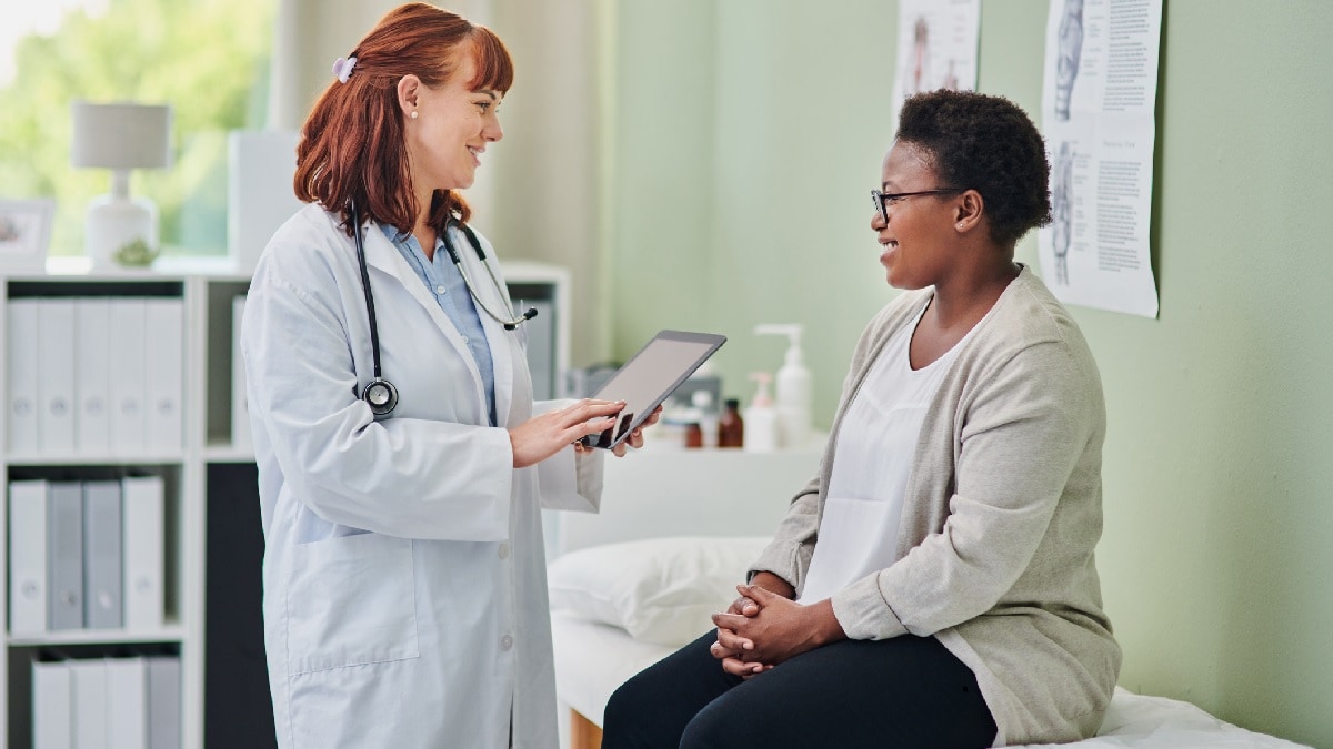
[{"label": "digital tablet held in the doctor's hands", "polygon": [[615,426],[601,434],[585,436],[583,444],[611,449],[625,441],[724,343],[726,336],[713,333],[663,331],[653,336],[592,396],[596,400],[625,401],[625,409],[617,416]]}]

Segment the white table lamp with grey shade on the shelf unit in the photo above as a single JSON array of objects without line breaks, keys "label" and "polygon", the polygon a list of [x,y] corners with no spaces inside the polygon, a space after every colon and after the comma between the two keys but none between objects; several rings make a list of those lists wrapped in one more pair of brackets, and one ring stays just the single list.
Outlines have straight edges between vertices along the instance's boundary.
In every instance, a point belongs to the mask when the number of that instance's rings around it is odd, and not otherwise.
[{"label": "white table lamp with grey shade on the shelf unit", "polygon": [[131,197],[131,169],[171,164],[171,107],[157,104],[91,104],[75,101],[75,167],[111,169],[111,195],[93,199],[84,227],[84,249],[93,268],[113,264],[116,252],[135,241],[157,249],[157,205]]}]

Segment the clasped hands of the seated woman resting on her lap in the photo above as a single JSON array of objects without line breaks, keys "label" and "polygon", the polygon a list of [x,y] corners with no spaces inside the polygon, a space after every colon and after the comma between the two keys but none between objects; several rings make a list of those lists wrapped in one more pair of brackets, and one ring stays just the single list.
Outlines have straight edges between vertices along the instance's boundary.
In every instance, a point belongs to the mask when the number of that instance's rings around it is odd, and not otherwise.
[{"label": "clasped hands of the seated woman resting on her lap", "polygon": [[737,585],[736,590],[754,601],[758,612],[754,616],[713,614],[713,624],[720,636],[726,629],[738,641],[749,642],[750,646],[741,648],[737,657],[749,664],[752,672],[753,664],[774,666],[806,650],[846,638],[828,600],[806,606],[757,585]]}]

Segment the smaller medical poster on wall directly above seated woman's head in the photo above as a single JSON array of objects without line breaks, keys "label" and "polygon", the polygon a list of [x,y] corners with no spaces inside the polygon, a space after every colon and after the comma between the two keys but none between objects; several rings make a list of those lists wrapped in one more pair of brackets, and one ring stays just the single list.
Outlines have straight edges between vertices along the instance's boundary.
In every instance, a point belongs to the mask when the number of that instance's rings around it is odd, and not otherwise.
[{"label": "smaller medical poster on wall directly above seated woman's head", "polygon": [[977,89],[981,0],[901,0],[893,111],[913,93]]}]

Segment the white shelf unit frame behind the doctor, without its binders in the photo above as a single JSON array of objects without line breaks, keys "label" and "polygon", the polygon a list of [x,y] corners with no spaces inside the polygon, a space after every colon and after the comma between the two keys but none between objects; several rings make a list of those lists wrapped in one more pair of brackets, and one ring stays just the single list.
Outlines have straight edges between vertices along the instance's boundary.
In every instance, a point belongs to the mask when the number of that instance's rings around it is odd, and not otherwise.
[{"label": "white shelf unit frame behind the doctor, without its binders", "polygon": [[[537,263],[504,265],[516,304],[539,303],[545,320],[528,331],[535,380],[548,394],[563,390],[568,368],[568,271]],[[0,740],[32,742],[31,664],[44,650],[99,657],[127,650],[175,653],[181,661],[181,746],[272,745],[272,706],[264,669],[260,617],[263,534],[255,456],[232,445],[232,300],[249,288],[223,259],[159,263],[143,272],[93,272],[52,261],[45,273],[0,272],[0,353],[9,352],[12,297],[173,296],[184,303],[183,441],[179,450],[123,454],[35,454],[9,442],[8,369],[0,365]],[[539,320],[541,317],[539,316]],[[555,340],[541,339],[553,337]],[[9,633],[8,482],[23,478],[104,480],[152,473],[164,478],[164,626],[153,632],[64,630]],[[219,598],[225,605],[217,605]],[[209,608],[209,602],[215,605]],[[209,668],[212,665],[212,668]],[[215,720],[209,720],[209,718]],[[269,736],[264,737],[265,730]],[[237,732],[251,732],[248,734]],[[257,732],[257,733],[256,733]]]}]

